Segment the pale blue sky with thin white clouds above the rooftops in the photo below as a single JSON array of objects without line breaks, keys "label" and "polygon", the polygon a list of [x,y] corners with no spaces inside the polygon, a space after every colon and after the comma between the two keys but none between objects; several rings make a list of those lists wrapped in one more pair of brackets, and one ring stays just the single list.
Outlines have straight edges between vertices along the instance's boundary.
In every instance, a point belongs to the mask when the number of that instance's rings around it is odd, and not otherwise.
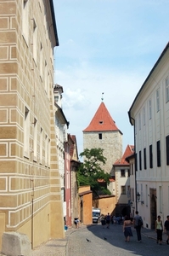
[{"label": "pale blue sky with thin white clouds above the rooftops", "polygon": [[128,111],[169,40],[169,1],[54,0],[54,11],[54,84],[63,87],[78,154],[102,96],[123,133],[124,151],[134,144]]}]

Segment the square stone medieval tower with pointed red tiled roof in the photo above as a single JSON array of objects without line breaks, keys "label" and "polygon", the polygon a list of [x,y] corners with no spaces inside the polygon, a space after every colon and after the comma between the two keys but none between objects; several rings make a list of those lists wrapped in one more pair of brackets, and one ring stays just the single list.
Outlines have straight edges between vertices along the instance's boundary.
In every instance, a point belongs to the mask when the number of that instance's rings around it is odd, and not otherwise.
[{"label": "square stone medieval tower with pointed red tiled roof", "polygon": [[103,148],[107,159],[104,172],[114,176],[112,165],[122,156],[122,132],[115,125],[104,102],[101,102],[92,121],[83,130],[83,149],[85,148]]}]

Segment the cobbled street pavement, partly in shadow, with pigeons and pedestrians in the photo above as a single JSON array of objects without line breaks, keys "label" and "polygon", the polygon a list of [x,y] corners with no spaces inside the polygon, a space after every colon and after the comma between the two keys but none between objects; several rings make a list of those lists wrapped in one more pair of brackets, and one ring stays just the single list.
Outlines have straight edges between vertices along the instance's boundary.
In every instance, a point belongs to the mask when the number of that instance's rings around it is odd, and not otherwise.
[{"label": "cobbled street pavement, partly in shadow, with pigeons and pedestrians", "polygon": [[[121,225],[110,225],[110,230],[102,228],[100,224],[79,229],[71,233],[66,248],[66,256],[168,256],[169,245],[166,244],[166,234],[163,235],[161,246],[155,239],[149,238],[152,231],[143,229],[142,242],[137,242],[136,231],[132,229],[133,237],[130,242],[125,241]],[[155,234],[154,234],[155,238]],[[87,239],[89,241],[87,241]]]}]

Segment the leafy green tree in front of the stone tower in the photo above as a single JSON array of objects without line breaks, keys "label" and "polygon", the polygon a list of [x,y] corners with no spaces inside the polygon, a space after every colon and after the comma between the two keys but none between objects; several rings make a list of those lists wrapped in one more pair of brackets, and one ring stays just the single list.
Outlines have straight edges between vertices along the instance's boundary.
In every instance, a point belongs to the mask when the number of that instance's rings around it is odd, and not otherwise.
[{"label": "leafy green tree in front of the stone tower", "polygon": [[[77,182],[79,186],[90,185],[94,197],[111,194],[106,188],[110,183],[110,174],[104,173],[102,169],[106,162],[103,152],[103,148],[86,148],[80,154],[84,160],[77,172]],[[99,183],[99,180],[102,183]]]}]

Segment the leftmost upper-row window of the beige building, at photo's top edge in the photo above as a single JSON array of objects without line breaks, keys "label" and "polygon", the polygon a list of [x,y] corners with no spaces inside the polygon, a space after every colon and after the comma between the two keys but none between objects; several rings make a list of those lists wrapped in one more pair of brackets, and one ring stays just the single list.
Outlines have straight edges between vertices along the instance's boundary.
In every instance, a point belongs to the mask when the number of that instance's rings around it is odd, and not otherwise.
[{"label": "leftmost upper-row window of the beige building, at photo's top edge", "polygon": [[29,36],[29,0],[22,0],[22,33],[25,38],[26,44],[28,44]]}]

